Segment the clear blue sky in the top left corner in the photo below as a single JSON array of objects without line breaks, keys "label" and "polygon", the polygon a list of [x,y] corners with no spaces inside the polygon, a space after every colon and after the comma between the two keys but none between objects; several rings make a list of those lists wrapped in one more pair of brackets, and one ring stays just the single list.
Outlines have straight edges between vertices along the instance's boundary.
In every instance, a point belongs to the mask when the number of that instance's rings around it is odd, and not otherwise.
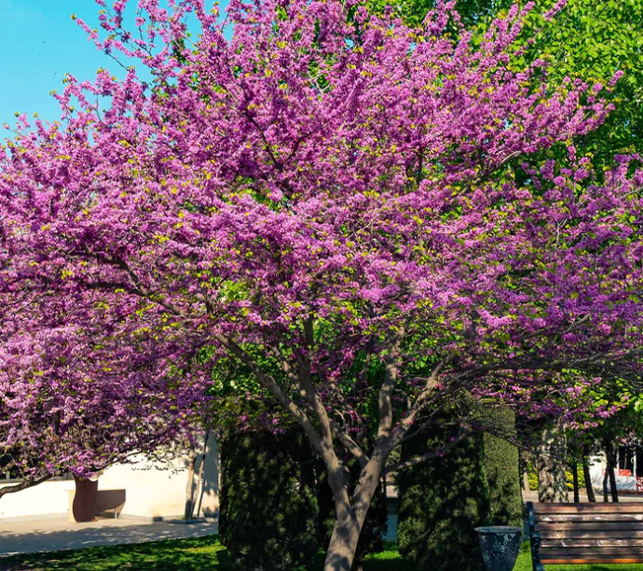
[{"label": "clear blue sky in the top left corner", "polygon": [[13,125],[16,112],[58,119],[60,108],[49,93],[62,90],[66,73],[90,80],[104,67],[120,75],[71,20],[76,14],[94,27],[97,11],[93,0],[0,0],[0,139],[7,134],[2,125]]}]

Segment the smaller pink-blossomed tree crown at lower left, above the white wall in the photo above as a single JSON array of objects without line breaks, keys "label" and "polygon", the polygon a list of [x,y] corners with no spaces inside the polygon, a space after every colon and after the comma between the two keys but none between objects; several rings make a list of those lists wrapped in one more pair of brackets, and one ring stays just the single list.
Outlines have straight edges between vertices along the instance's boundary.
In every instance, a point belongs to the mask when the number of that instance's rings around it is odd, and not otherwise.
[{"label": "smaller pink-blossomed tree crown at lower left, above the white wall", "polygon": [[185,375],[179,392],[176,377],[157,375],[149,338],[116,355],[87,326],[20,332],[38,319],[26,311],[22,325],[3,320],[0,335],[0,470],[17,480],[0,498],[64,473],[84,479],[141,455],[163,459],[195,436],[197,393]]}]

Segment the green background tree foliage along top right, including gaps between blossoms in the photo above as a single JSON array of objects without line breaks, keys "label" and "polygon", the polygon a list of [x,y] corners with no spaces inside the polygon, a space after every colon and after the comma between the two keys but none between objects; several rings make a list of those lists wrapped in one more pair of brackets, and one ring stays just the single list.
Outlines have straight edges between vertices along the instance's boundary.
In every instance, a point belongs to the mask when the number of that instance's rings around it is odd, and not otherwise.
[{"label": "green background tree foliage along top right, including gaps between blossoms", "polygon": [[[481,38],[493,19],[506,14],[513,4],[511,0],[458,0],[456,8],[464,27]],[[591,154],[593,164],[602,168],[615,154],[643,152],[643,0],[569,0],[554,18],[549,17],[554,0],[529,4],[533,9],[516,42],[516,48],[526,51],[513,65],[547,60],[546,81],[552,85],[566,78],[606,85],[617,71],[623,72],[616,89],[606,94],[614,105],[607,121],[574,141],[579,154]],[[389,5],[388,0],[370,2],[376,11]],[[434,0],[402,0],[390,6],[412,24],[421,22],[434,7]]]}]

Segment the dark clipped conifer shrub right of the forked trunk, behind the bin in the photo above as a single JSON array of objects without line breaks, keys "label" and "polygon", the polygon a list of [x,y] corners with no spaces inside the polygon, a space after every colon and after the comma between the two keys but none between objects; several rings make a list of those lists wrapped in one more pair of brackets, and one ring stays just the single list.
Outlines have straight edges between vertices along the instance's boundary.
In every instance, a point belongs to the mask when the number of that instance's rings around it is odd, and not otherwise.
[{"label": "dark clipped conifer shrub right of the forked trunk, behind the bin", "polygon": [[[496,412],[492,424],[513,430],[513,415]],[[448,419],[402,448],[402,459],[439,450],[453,437]],[[436,457],[397,476],[398,546],[417,571],[480,571],[475,528],[520,525],[522,500],[517,449],[474,433]]]}]

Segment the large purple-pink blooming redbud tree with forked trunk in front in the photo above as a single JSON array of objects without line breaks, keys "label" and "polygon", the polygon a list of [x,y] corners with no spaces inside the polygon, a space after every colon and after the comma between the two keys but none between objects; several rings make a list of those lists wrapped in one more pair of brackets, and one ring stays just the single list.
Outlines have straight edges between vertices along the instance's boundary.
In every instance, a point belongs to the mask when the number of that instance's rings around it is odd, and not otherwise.
[{"label": "large purple-pink blooming redbud tree with forked trunk in front", "polygon": [[[234,0],[224,21],[98,4],[87,32],[145,71],[68,78],[62,122],[7,143],[5,335],[57,320],[78,374],[113,360],[134,385],[140,338],[146,382],[186,401],[241,363],[241,396],[269,395],[325,462],[327,571],[449,395],[560,412],[568,386],[638,374],[643,173],[576,156],[603,86],[515,69],[518,8],[474,41],[453,3],[417,28],[335,0]],[[565,164],[529,160],[561,146]]]}]

